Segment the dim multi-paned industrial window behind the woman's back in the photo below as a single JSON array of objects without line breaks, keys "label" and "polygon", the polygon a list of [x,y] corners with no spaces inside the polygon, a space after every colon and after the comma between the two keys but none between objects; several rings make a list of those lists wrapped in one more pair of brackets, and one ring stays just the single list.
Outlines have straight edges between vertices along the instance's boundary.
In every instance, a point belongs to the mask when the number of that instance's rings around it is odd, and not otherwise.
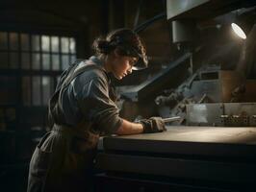
[{"label": "dim multi-paned industrial window behind the woman's back", "polygon": [[57,79],[74,60],[73,36],[0,32],[0,104],[46,106]]}]

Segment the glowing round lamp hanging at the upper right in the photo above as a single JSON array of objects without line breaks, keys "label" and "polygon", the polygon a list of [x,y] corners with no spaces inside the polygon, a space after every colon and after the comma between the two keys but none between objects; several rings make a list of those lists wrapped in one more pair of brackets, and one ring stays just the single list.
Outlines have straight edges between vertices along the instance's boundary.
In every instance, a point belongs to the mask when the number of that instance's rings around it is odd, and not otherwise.
[{"label": "glowing round lamp hanging at the upper right", "polygon": [[243,39],[246,39],[250,33],[256,19],[256,10],[250,10],[248,12],[243,12],[238,16],[236,22],[231,24],[232,30],[235,34]]}]

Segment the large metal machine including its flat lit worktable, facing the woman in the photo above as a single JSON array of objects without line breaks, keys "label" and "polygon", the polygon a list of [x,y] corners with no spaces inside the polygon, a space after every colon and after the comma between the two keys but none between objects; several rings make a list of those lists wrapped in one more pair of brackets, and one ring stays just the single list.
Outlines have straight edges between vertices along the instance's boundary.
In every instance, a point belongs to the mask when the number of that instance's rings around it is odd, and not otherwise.
[{"label": "large metal machine including its flat lit worktable, facing the woman", "polygon": [[[160,116],[181,119],[167,123],[167,132],[103,138],[98,191],[256,190],[256,28],[243,42],[220,46],[214,39],[214,49],[205,42],[215,33],[194,42],[198,28],[201,36],[213,26],[219,32],[223,17],[230,22],[254,6],[241,0],[166,1],[173,43],[184,54],[122,96],[139,108],[147,99]],[[205,24],[209,19],[211,25]],[[138,111],[130,119],[145,116]]]}]

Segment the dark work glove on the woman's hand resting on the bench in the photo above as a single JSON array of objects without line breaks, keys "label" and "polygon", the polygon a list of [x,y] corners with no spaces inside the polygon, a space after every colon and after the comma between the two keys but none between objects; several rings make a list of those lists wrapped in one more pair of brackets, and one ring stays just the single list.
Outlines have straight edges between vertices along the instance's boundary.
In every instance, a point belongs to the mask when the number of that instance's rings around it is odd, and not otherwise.
[{"label": "dark work glove on the woman's hand resting on the bench", "polygon": [[150,117],[149,119],[141,119],[144,133],[164,132],[166,131],[165,122],[161,117]]}]

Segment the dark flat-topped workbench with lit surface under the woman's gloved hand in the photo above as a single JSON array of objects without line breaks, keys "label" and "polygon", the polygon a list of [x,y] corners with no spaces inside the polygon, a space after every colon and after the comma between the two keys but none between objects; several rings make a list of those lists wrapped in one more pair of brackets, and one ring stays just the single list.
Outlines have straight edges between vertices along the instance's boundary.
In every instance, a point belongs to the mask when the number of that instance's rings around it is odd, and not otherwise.
[{"label": "dark flat-topped workbench with lit surface under the woman's gloved hand", "polygon": [[179,126],[108,136],[95,162],[102,171],[97,181],[114,191],[120,183],[132,190],[250,191],[256,184],[256,128]]}]

